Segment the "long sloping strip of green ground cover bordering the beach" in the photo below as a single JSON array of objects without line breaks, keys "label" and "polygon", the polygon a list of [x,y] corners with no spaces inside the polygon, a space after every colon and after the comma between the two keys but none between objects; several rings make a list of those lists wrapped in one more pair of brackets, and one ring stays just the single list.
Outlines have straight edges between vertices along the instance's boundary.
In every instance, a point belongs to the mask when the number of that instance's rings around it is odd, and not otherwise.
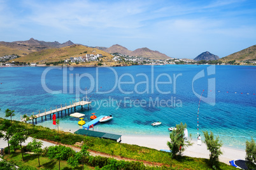
[{"label": "long sloping strip of green ground cover bordering the beach", "polygon": [[[3,119],[0,119],[0,123]],[[34,126],[34,133],[32,131],[32,124],[25,124],[18,121],[13,121],[13,124],[27,129],[33,138],[42,140],[57,141],[66,145],[75,145],[76,142],[84,141],[89,147],[89,150],[101,152],[117,157],[139,160],[143,162],[151,162],[151,164],[164,164],[170,167],[179,169],[211,169],[208,159],[200,159],[194,157],[180,157],[179,159],[171,159],[167,152],[161,152],[152,148],[139,147],[138,145],[129,145],[126,143],[117,143],[112,140],[105,140],[101,138],[94,138],[89,136],[82,136],[72,134],[64,131],[57,131],[43,126]],[[55,136],[59,135],[59,138]],[[111,149],[110,149],[111,148]],[[37,163],[37,162],[36,162]],[[37,163],[38,164],[38,163]],[[217,169],[236,169],[222,162],[218,162]]]}]

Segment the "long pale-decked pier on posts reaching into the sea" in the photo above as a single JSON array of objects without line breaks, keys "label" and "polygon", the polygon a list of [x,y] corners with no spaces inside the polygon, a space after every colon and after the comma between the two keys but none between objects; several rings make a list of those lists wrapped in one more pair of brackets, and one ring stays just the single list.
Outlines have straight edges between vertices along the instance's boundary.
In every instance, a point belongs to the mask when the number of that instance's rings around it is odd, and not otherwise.
[{"label": "long pale-decked pier on posts reaching into the sea", "polygon": [[[53,109],[50,108],[50,111],[46,112],[46,109],[45,109],[45,112],[41,112],[39,111],[38,114],[34,114],[34,119],[37,119],[39,117],[41,117],[42,121],[43,121],[43,116],[45,116],[45,120],[46,120],[46,115],[50,115],[50,119],[52,119],[51,117],[51,114],[55,114],[55,113],[58,113],[59,115],[59,112],[61,112],[61,115],[62,115],[62,111],[65,110],[65,114],[66,114],[66,110],[68,109],[68,112],[69,112],[69,108],[71,108],[71,111],[72,111],[72,108],[76,108],[78,106],[81,106],[83,108],[84,105],[88,105],[88,108],[89,108],[89,104],[92,103],[91,101],[77,101],[77,102],[74,102],[74,103],[70,103],[70,105],[66,105],[64,107],[62,107],[62,105],[60,105],[60,108],[57,108],[56,106],[56,109]],[[34,124],[34,119],[32,119],[32,117],[29,117],[29,120],[32,120],[33,121],[33,124]],[[28,120],[26,120],[25,118],[22,118],[22,115],[20,115],[20,121],[23,121],[23,122],[27,122]]]}]

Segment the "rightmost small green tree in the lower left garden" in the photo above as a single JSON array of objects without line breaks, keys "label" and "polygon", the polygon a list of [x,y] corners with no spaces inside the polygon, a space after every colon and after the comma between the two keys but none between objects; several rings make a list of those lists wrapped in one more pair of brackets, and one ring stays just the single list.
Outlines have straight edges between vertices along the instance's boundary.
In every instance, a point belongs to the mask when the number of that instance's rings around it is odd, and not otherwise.
[{"label": "rightmost small green tree in the lower left garden", "polygon": [[82,164],[85,163],[85,159],[89,156],[89,151],[87,145],[83,145],[82,150],[80,152],[77,152],[74,157],[69,157],[68,164],[71,166],[78,166],[80,162]]}]

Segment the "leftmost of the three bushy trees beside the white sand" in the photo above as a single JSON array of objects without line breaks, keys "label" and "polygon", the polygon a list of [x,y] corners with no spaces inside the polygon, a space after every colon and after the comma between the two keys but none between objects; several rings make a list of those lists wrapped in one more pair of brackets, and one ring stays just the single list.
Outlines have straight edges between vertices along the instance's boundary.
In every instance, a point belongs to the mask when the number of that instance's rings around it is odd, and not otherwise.
[{"label": "leftmost of the three bushy trees beside the white sand", "polygon": [[187,124],[176,124],[176,130],[174,129],[170,133],[171,141],[167,141],[167,145],[171,150],[171,157],[175,158],[177,155],[180,155],[185,147],[192,145],[189,141],[185,142],[184,140],[184,130],[187,128]]}]

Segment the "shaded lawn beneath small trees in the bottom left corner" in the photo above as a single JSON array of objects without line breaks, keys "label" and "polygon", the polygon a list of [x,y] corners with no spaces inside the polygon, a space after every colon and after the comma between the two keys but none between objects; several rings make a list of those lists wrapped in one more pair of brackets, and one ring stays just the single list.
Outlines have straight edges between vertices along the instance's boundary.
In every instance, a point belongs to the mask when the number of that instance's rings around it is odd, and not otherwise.
[{"label": "shaded lawn beneath small trees in the bottom left corner", "polygon": [[[38,157],[36,155],[24,154],[24,161],[22,160],[22,155],[20,152],[11,153],[11,155],[4,155],[4,159],[8,162],[13,162],[17,166],[29,166],[36,169],[56,169],[59,170],[59,161],[51,160],[48,157],[40,157],[41,166],[38,167]],[[66,161],[60,161],[60,169],[82,169],[82,165],[72,167],[69,166]],[[94,169],[93,167],[84,166],[84,169]]]}]

